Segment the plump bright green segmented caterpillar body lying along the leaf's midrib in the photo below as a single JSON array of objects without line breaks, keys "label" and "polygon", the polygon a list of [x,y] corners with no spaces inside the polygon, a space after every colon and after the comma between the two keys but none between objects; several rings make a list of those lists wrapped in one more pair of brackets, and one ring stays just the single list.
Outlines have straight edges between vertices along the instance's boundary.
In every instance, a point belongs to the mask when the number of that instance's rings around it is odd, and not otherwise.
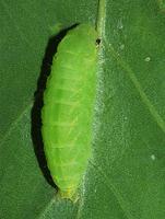
[{"label": "plump bright green segmented caterpillar body lying along the leaf's midrib", "polygon": [[97,34],[87,24],[58,46],[44,94],[43,139],[48,168],[63,197],[71,198],[91,155],[96,87]]}]

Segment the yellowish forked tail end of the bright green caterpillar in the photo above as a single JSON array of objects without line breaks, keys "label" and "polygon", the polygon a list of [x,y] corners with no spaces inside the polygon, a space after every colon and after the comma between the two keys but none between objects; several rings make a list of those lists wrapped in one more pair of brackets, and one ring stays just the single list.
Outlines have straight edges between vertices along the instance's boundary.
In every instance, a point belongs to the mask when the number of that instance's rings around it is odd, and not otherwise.
[{"label": "yellowish forked tail end of the bright green caterpillar", "polygon": [[78,193],[74,188],[68,188],[66,191],[59,189],[58,194],[61,198],[70,199],[73,203],[76,203],[79,199]]}]

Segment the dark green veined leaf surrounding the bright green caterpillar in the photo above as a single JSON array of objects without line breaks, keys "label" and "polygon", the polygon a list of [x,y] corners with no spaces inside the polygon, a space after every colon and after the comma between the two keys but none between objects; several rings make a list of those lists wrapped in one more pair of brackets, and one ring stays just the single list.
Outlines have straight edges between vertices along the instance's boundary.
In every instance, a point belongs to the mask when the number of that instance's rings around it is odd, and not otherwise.
[{"label": "dark green veined leaf surrounding the bright green caterpillar", "polygon": [[38,95],[57,25],[95,24],[98,2],[0,2],[0,218],[165,218],[163,5],[106,2],[93,159],[72,203],[57,197],[46,175]]}]

